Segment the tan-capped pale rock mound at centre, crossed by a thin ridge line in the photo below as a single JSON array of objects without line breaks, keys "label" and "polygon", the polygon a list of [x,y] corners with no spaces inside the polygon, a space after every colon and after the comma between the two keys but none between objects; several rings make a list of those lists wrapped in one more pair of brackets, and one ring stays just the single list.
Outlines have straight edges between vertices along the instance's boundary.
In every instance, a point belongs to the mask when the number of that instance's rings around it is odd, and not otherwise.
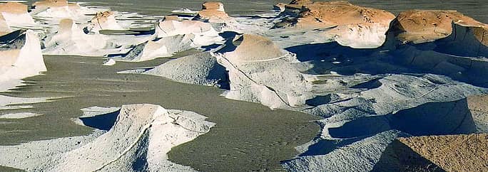
[{"label": "tan-capped pale rock mound at centre, crossed by a thin ridge line", "polygon": [[215,55],[230,78],[225,97],[260,102],[273,109],[294,107],[310,97],[302,91],[307,81],[291,65],[297,62],[295,56],[268,38],[244,34],[230,41],[227,48],[228,52]]}]

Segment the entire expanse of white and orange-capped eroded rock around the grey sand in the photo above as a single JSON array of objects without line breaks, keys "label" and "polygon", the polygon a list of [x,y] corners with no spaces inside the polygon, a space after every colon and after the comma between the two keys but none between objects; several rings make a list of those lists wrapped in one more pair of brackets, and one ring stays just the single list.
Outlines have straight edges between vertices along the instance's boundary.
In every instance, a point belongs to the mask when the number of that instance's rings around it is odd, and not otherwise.
[{"label": "entire expanse of white and orange-capped eroded rock around the grey sand", "polygon": [[[220,87],[228,99],[322,117],[320,133],[281,162],[288,171],[488,169],[488,25],[457,11],[395,16],[345,1],[294,0],[277,4],[271,17],[245,18],[205,2],[194,16],[158,18],[143,31],[119,19],[129,14],[57,0],[32,6],[28,12],[24,4],[0,4],[5,90],[46,71],[43,54],[99,56],[117,65],[197,50],[121,72]],[[193,171],[166,154],[213,125],[194,112],[125,105],[108,131],[0,146],[0,154],[13,155],[1,156],[0,165]],[[56,146],[26,151],[46,143]]]}]

